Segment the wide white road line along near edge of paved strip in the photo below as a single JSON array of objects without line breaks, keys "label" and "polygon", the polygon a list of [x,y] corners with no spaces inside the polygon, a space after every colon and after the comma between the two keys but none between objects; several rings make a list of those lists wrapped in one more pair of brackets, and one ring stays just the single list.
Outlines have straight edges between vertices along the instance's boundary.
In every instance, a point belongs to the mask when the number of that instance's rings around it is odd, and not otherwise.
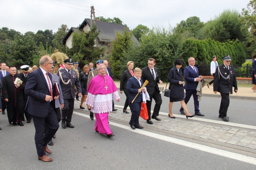
[{"label": "wide white road line along near edge of paved strip", "polygon": [[[82,116],[82,117],[86,117],[86,118],[90,118],[89,116],[87,116],[85,114],[82,114],[82,113],[78,113],[78,112],[73,112],[73,114],[76,114],[76,115],[79,115],[79,116]],[[241,154],[232,153],[232,152],[224,151],[224,150],[221,150],[221,149],[211,148],[211,147],[200,145],[200,144],[197,144],[197,143],[192,143],[192,142],[188,142],[188,141],[185,141],[185,140],[175,139],[175,138],[172,138],[172,137],[159,135],[159,134],[156,134],[156,133],[147,132],[147,131],[143,131],[143,130],[139,130],[139,129],[132,130],[130,128],[130,126],[126,126],[126,125],[122,125],[122,124],[118,124],[118,123],[114,123],[114,122],[109,122],[109,124],[111,124],[113,126],[117,126],[119,128],[122,128],[122,129],[126,129],[126,130],[134,132],[134,133],[141,134],[141,135],[153,137],[153,138],[156,138],[156,139],[160,139],[160,140],[164,140],[164,141],[167,141],[167,142],[175,143],[177,145],[182,145],[182,146],[185,146],[185,147],[197,149],[197,150],[200,150],[200,151],[204,151],[204,152],[208,152],[208,153],[212,153],[212,154],[216,154],[216,155],[220,155],[220,156],[224,156],[224,157],[227,157],[227,158],[236,159],[236,160],[239,160],[239,161],[242,161],[242,162],[246,162],[246,163],[249,163],[249,164],[256,165],[256,158],[253,158],[253,157],[244,156],[244,155],[241,155]]]}]

